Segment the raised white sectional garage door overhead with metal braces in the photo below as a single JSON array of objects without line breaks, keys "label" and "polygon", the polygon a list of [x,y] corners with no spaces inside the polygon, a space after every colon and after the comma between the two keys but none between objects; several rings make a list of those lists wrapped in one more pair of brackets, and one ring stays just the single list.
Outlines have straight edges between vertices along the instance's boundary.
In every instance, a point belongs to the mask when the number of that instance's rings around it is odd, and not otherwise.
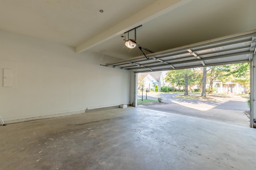
[{"label": "raised white sectional garage door overhead with metal braces", "polygon": [[151,72],[175,70],[221,64],[244,63],[252,61],[255,53],[256,30],[234,34],[218,39],[203,41],[192,45],[139,56],[106,66]]}]

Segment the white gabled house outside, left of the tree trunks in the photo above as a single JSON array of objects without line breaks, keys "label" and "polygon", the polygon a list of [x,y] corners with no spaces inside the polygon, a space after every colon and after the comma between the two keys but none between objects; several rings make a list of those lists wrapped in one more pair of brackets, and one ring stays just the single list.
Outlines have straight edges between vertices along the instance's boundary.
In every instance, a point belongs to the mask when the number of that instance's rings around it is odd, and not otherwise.
[{"label": "white gabled house outside, left of the tree trunks", "polygon": [[158,91],[164,86],[164,78],[162,72],[150,72],[146,73],[144,79],[144,89],[155,90],[156,85],[158,86]]}]

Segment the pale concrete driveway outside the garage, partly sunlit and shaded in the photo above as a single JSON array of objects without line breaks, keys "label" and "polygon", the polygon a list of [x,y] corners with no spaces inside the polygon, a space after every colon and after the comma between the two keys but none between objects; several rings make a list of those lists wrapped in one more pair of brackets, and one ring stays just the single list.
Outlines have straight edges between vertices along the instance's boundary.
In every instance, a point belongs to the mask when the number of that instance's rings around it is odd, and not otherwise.
[{"label": "pale concrete driveway outside the garage, partly sunlit and shaded", "polygon": [[[140,108],[163,111],[167,113],[186,115],[190,117],[203,118],[220,121],[234,125],[250,126],[250,119],[244,113],[249,111],[246,98],[239,95],[216,97],[217,101],[198,101],[174,98],[181,94],[148,93],[147,98],[157,100],[162,98],[165,105],[142,106]],[[138,96],[142,98],[142,96]],[[143,95],[143,98],[146,99]]]}]

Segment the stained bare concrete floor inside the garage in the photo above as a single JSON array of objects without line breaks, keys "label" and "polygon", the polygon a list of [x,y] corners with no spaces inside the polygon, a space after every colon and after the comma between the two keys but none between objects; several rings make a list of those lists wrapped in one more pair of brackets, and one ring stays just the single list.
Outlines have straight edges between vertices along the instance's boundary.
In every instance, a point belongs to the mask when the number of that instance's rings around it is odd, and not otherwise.
[{"label": "stained bare concrete floor inside the garage", "polygon": [[256,167],[256,129],[142,108],[0,127],[4,170],[199,170]]}]

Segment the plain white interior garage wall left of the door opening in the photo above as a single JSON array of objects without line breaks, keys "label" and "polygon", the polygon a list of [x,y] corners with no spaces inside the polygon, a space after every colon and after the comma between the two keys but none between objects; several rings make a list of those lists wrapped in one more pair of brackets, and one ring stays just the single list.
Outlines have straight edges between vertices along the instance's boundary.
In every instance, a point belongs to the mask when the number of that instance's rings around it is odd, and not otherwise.
[{"label": "plain white interior garage wall left of the door opening", "polygon": [[4,121],[132,103],[131,72],[100,66],[118,59],[2,30],[0,37],[0,75],[13,69],[12,87],[0,78]]}]

